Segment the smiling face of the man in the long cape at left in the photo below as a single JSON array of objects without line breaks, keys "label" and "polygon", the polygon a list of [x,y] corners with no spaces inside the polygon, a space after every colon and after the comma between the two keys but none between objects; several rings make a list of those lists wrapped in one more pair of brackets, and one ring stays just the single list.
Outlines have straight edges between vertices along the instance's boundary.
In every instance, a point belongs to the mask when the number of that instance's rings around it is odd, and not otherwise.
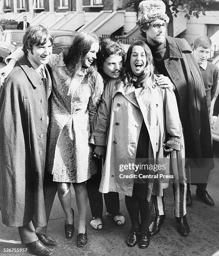
[{"label": "smiling face of the man in the long cape at left", "polygon": [[44,45],[33,45],[33,49],[28,49],[28,58],[30,58],[35,64],[39,66],[47,64],[53,51],[53,46],[50,40],[46,41]]}]

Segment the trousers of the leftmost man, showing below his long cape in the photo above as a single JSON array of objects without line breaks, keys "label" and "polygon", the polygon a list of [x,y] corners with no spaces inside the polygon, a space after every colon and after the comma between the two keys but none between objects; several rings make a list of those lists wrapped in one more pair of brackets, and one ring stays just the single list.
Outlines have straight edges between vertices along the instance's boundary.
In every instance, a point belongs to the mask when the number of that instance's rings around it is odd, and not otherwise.
[{"label": "trousers of the leftmost man, showing below his long cape", "polygon": [[[44,195],[44,202],[45,202],[45,215],[46,215],[47,225],[48,225],[48,220],[49,220],[49,216],[53,206],[56,192],[57,192],[57,184],[56,182],[53,182],[53,176],[49,172],[45,171],[44,181],[43,181],[43,195]],[[25,244],[25,243],[33,243],[34,241],[37,241],[38,238],[36,236],[36,233],[45,235],[47,225],[45,227],[35,227],[34,217],[33,217],[33,220],[30,221],[30,223],[28,223],[23,227],[18,228],[21,242]]]}]

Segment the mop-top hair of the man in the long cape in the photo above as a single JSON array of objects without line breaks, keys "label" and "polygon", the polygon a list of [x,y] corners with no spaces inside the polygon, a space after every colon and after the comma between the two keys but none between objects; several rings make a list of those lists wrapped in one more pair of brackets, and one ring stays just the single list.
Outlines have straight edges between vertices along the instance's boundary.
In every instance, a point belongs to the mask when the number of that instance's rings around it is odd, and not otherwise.
[{"label": "mop-top hair of the man in the long cape", "polygon": [[53,35],[48,31],[47,28],[45,28],[42,25],[34,25],[30,26],[24,36],[23,36],[23,51],[27,55],[28,50],[33,53],[33,45],[44,45],[47,41],[51,42],[51,45],[54,44],[54,37]]}]

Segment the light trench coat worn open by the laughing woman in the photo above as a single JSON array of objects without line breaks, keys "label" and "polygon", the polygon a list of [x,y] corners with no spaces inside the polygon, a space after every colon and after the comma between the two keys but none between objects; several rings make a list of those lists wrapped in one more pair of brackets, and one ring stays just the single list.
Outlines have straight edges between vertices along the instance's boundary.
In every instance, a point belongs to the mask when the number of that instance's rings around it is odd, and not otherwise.
[{"label": "light trench coat worn open by the laughing woman", "polygon": [[[169,159],[163,151],[163,141],[166,140],[165,129],[169,134],[168,145],[180,150],[181,122],[173,91],[161,89],[155,83],[146,89],[135,89],[129,84],[128,90],[125,90],[122,82],[116,85],[115,83],[116,80],[111,80],[102,95],[93,122],[90,143],[107,145],[100,192],[114,191],[132,196],[133,178],[121,179],[119,166],[124,163],[135,164],[142,121],[144,120],[149,132],[148,154],[150,159],[154,159],[154,163],[158,163],[161,159]],[[168,164],[164,172],[169,174]],[[133,169],[128,169],[123,173],[130,175],[135,172]],[[159,179],[158,184],[154,186],[153,195],[163,195],[163,189],[166,187],[168,187],[168,179]],[[152,188],[153,181],[147,185],[147,200],[150,200]]]}]

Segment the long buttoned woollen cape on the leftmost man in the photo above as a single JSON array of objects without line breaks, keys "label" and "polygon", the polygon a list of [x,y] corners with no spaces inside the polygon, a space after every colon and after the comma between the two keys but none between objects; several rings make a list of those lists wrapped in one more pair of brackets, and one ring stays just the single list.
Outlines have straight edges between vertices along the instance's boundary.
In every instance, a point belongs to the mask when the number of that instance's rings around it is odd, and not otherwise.
[{"label": "long buttoned woollen cape on the leftmost man", "polygon": [[0,207],[3,223],[45,226],[43,177],[51,80],[24,56],[0,91]]}]

